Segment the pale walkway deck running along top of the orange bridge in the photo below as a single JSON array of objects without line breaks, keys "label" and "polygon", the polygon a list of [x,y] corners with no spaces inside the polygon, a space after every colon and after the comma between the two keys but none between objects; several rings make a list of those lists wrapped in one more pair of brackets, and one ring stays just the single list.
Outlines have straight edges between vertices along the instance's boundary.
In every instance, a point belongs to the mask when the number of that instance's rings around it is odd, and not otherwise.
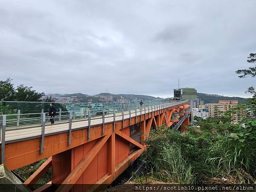
[{"label": "pale walkway deck running along top of the orange bridge", "polygon": [[[166,107],[172,107],[176,105],[180,105],[183,102],[172,102],[172,103],[166,103],[166,105],[154,105],[154,106],[147,106],[146,108],[142,108],[141,114],[144,115],[145,113],[150,113],[154,112]],[[137,109],[137,113],[135,110],[131,110],[131,117],[135,116],[140,116],[140,109]],[[75,119],[73,119],[73,117]],[[82,128],[87,128],[88,127],[88,116],[84,115],[78,116],[79,119],[76,119],[77,116],[72,116],[72,130],[76,129],[82,129]],[[124,111],[123,115],[124,119],[129,119],[130,114],[129,111]],[[69,120],[67,118],[67,115],[62,118],[63,120],[59,120],[59,117],[55,117],[55,124],[49,124],[49,119],[48,122],[46,122],[45,125],[45,132],[44,134],[51,135],[51,134],[58,134],[60,132],[68,131],[69,130]],[[27,140],[32,137],[41,137],[42,134],[42,126],[40,124],[40,120],[37,118],[37,121],[39,120],[39,123],[35,124],[28,124],[28,125],[19,125],[19,126],[7,126],[6,127],[6,132],[5,132],[5,142],[6,143],[12,143],[20,140]],[[122,113],[116,113],[115,114],[115,121],[122,121]],[[94,116],[90,118],[90,126],[96,126],[96,125],[101,125],[103,122],[103,117],[102,115]],[[111,123],[114,122],[114,117],[113,113],[111,114],[105,114],[104,122],[106,123]]]}]

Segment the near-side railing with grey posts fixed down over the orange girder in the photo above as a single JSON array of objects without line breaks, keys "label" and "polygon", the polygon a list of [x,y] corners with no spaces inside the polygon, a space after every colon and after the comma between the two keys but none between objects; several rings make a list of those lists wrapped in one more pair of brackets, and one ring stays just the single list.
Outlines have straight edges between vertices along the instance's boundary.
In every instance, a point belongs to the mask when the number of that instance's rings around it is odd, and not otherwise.
[{"label": "near-side railing with grey posts fixed down over the orange girder", "polygon": [[[159,110],[164,108],[174,107],[185,103],[186,101],[144,102],[143,106],[139,103],[87,103],[86,105],[84,103],[72,103],[71,106],[73,106],[73,108],[67,108],[67,105],[66,108],[64,108],[63,106],[65,104],[54,104],[55,107],[61,107],[54,117],[47,116],[48,113],[44,112],[45,108],[39,108],[35,113],[21,113],[24,110],[18,108],[15,110],[15,114],[11,114],[13,113],[13,110],[6,110],[8,111],[7,114],[6,111],[0,114],[1,143],[2,146],[4,146],[5,143],[27,140],[32,137],[41,137],[40,153],[43,153],[45,135],[68,131],[68,145],[70,145],[72,130],[87,128],[87,136],[88,139],[90,139],[91,125],[102,125],[102,135],[104,135],[105,123],[113,123],[113,131],[115,131],[116,121],[122,121],[122,128],[124,128],[125,119],[130,119],[131,125],[131,118],[134,116],[140,115],[142,117],[142,115],[146,115],[146,113],[153,114],[154,111],[159,113]],[[35,104],[39,106],[46,105],[45,103],[42,104],[37,102],[35,102]],[[70,105],[70,103],[68,104]],[[31,107],[34,106],[34,103],[28,102],[28,105]],[[24,106],[23,103],[23,107]],[[41,113],[37,113],[39,110],[41,110]],[[26,108],[26,111],[32,110]],[[51,126],[51,120],[54,120],[54,125],[57,125],[55,126],[57,128]],[[4,157],[4,149],[2,149],[2,151],[2,157]]]}]

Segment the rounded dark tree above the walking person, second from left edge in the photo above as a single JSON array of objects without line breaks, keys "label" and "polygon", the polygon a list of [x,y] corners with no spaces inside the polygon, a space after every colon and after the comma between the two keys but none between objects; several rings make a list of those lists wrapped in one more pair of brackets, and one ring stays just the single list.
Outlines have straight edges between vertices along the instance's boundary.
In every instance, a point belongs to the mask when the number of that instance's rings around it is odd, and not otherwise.
[{"label": "rounded dark tree above the walking person, second from left edge", "polygon": [[21,84],[17,86],[15,101],[38,102],[41,101],[42,96],[44,96],[44,92],[38,93],[36,90],[32,90],[32,87]]}]

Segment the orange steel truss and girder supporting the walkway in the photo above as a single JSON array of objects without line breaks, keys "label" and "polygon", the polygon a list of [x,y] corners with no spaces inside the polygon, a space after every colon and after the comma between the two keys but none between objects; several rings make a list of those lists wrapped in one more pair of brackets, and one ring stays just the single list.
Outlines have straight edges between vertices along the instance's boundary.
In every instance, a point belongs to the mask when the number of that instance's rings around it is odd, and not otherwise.
[{"label": "orange steel truss and girder supporting the walkway", "polygon": [[[44,158],[48,160],[25,181],[32,187],[47,170],[52,167],[52,181],[56,192],[96,191],[101,184],[111,184],[130,163],[136,160],[145,150],[145,146],[130,137],[130,125],[140,122],[141,141],[145,140],[152,125],[166,123],[170,127],[177,120],[171,121],[174,111],[185,110],[189,105],[178,105],[137,117],[105,124],[102,135],[102,125],[91,127],[90,139],[87,129],[72,131],[71,144],[68,145],[68,133],[59,133],[45,137],[44,153],[40,154],[40,138],[6,144],[5,166],[17,169],[37,162]],[[180,114],[180,116],[183,116]],[[178,116],[179,117],[179,116]],[[182,125],[188,125],[188,117]],[[130,143],[135,149],[130,151]],[[74,185],[80,184],[80,185]],[[99,184],[99,185],[93,185]],[[49,185],[50,186],[50,185]],[[43,186],[36,191],[47,191]]]}]

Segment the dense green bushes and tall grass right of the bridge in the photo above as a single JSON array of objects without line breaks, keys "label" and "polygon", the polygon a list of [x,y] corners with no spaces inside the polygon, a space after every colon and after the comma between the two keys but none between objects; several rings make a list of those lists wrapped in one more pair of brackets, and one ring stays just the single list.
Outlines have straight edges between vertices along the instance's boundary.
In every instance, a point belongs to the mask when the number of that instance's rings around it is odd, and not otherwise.
[{"label": "dense green bushes and tall grass right of the bridge", "polygon": [[219,118],[196,117],[184,133],[166,125],[150,131],[142,154],[146,176],[165,183],[255,183],[256,119],[231,123],[243,107]]}]

